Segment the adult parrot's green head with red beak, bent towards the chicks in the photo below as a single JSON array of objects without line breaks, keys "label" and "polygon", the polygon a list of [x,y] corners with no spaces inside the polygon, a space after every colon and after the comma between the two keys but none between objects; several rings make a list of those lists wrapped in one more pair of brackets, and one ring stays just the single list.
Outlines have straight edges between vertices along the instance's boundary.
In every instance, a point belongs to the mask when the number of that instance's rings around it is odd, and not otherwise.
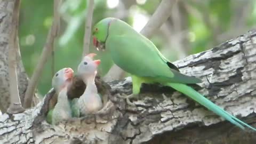
[{"label": "adult parrot's green head with red beak, bent towards the chicks", "polygon": [[116,18],[105,18],[99,21],[92,31],[93,45],[97,47],[97,50],[105,50],[105,42],[108,38],[109,26],[112,20]]}]

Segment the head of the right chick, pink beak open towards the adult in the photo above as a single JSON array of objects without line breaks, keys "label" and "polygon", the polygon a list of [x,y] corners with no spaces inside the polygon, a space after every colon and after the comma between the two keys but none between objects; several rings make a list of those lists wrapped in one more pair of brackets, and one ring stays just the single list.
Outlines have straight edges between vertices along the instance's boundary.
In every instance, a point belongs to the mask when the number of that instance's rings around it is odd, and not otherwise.
[{"label": "head of the right chick, pink beak open towards the adult", "polygon": [[77,67],[78,75],[95,75],[95,73],[97,73],[97,68],[100,65],[100,60],[93,60],[93,57],[95,55],[95,53],[89,53],[85,55],[85,57]]}]

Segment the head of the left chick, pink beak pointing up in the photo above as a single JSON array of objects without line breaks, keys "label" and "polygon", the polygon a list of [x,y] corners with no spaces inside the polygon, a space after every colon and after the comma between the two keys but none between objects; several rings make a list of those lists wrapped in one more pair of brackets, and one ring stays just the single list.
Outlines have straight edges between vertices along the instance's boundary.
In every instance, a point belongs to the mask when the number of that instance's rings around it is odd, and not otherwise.
[{"label": "head of the left chick, pink beak pointing up", "polygon": [[52,78],[52,87],[56,91],[60,91],[63,87],[71,84],[74,71],[71,68],[62,68]]}]

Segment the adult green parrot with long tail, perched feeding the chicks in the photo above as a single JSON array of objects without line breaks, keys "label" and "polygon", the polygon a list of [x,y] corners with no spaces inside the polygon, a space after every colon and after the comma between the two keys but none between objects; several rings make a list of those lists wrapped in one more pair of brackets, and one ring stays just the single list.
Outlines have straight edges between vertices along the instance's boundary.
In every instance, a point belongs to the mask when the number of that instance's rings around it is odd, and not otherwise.
[{"label": "adult green parrot with long tail, perched feeding the chicks", "polygon": [[126,96],[126,101],[130,105],[133,103],[129,98],[136,97],[140,93],[142,83],[161,83],[186,94],[241,129],[245,129],[246,126],[256,131],[252,126],[187,86],[186,84],[201,83],[201,80],[181,74],[179,69],[167,60],[148,38],[139,34],[126,22],[116,18],[105,18],[93,27],[92,35],[93,45],[98,50],[110,52],[116,65],[131,74],[132,94]]}]

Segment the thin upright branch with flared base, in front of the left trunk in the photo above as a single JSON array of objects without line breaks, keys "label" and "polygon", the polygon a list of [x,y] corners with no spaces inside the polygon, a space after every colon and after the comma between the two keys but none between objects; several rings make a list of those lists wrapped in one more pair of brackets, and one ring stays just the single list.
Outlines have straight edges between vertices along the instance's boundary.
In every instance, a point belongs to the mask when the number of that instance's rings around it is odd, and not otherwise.
[{"label": "thin upright branch with flared base, in front of the left trunk", "polygon": [[25,109],[21,106],[17,78],[17,54],[18,54],[18,25],[19,25],[20,0],[16,0],[13,6],[11,30],[9,36],[9,82],[11,104],[7,109],[9,114],[22,113]]}]

